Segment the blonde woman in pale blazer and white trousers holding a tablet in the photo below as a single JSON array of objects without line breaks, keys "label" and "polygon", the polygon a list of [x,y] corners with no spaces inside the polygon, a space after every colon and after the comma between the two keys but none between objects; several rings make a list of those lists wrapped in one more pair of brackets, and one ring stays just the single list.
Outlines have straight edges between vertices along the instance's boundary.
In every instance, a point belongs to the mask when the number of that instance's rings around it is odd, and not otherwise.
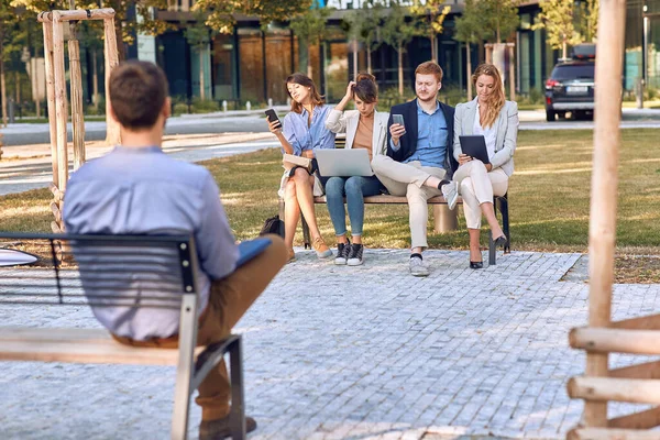
[{"label": "blonde woman in pale blazer and white trousers holding a tablet", "polygon": [[[514,152],[518,139],[518,105],[506,101],[499,72],[492,64],[480,65],[472,81],[476,98],[460,103],[454,113],[453,153],[459,169],[453,180],[442,187],[450,209],[463,197],[463,211],[470,234],[470,267],[482,268],[480,231],[482,213],[486,218],[496,245],[506,244],[506,237],[495,217],[493,196],[504,196],[508,179],[514,174]],[[486,141],[488,164],[484,164],[461,150],[459,136],[483,134]]]}]

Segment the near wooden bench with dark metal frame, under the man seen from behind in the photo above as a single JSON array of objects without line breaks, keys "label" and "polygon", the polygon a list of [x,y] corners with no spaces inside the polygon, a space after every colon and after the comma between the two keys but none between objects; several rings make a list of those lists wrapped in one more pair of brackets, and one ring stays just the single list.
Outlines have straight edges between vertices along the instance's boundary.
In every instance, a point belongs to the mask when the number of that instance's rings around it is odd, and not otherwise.
[{"label": "near wooden bench with dark metal frame, under the man seen from behind", "polygon": [[170,436],[180,440],[191,393],[229,353],[232,438],[245,438],[241,337],[196,348],[199,284],[191,238],[0,232],[0,248],[38,257],[32,266],[0,267],[6,312],[13,305],[22,306],[20,314],[54,305],[180,310],[178,349],[121,344],[103,329],[0,327],[0,361],[176,365]]}]

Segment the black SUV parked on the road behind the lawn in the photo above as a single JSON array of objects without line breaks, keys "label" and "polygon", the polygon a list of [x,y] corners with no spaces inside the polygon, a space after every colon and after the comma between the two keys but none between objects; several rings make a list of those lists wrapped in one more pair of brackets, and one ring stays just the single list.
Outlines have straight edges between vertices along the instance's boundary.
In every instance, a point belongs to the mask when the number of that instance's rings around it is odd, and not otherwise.
[{"label": "black SUV parked on the road behind the lawn", "polygon": [[566,111],[575,118],[594,111],[594,59],[592,44],[575,46],[573,59],[560,61],[546,81],[546,120],[565,117]]}]

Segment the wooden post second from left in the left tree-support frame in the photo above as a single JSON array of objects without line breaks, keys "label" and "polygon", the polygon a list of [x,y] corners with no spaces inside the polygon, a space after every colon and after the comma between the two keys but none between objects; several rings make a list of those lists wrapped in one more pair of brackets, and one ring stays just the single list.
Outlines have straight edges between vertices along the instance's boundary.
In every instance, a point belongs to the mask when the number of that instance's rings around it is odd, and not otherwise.
[{"label": "wooden post second from left in the left tree-support frame", "polygon": [[57,157],[58,178],[57,187],[66,191],[68,180],[68,151],[66,136],[67,105],[66,79],[64,72],[64,28],[59,11],[53,11],[53,67],[55,78],[55,123],[57,125]]}]

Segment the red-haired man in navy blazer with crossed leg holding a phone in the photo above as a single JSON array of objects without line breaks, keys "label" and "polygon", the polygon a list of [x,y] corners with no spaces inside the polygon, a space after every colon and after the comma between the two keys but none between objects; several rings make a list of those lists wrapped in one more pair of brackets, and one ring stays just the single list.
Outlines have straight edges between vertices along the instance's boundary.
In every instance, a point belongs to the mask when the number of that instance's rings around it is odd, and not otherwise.
[{"label": "red-haired man in navy blazer with crossed leg holding a phone", "polygon": [[[427,200],[440,196],[459,164],[453,158],[453,107],[438,101],[442,68],[426,62],[415,70],[410,102],[389,110],[387,155],[374,157],[372,167],[393,196],[406,196],[410,210],[410,274],[428,276],[421,252],[428,246]],[[395,118],[403,117],[403,124]]]}]

